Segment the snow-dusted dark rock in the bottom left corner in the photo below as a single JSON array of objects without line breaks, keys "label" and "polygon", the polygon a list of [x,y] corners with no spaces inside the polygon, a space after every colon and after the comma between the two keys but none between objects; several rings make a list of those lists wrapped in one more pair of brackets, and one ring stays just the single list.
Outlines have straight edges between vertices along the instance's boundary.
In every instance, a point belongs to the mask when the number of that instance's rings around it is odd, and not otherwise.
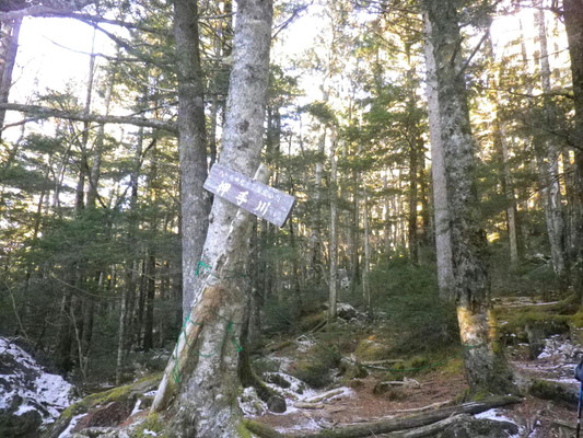
[{"label": "snow-dusted dark rock in the bottom left corner", "polygon": [[0,413],[22,416],[36,411],[44,425],[72,403],[72,385],[46,372],[16,344],[0,337]]}]

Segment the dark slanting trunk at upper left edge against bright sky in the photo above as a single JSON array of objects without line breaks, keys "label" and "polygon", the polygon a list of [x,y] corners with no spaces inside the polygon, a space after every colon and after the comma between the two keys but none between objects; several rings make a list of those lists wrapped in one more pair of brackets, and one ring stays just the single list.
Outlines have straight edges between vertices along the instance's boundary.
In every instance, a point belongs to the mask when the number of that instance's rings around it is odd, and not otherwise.
[{"label": "dark slanting trunk at upper left edge against bright sky", "polygon": [[[22,24],[22,18],[13,20],[0,30],[0,103],[8,103],[8,95],[12,87],[12,72],[19,51],[19,36]],[[0,110],[0,140],[2,139],[2,129],[4,127],[4,117],[7,111]]]}]

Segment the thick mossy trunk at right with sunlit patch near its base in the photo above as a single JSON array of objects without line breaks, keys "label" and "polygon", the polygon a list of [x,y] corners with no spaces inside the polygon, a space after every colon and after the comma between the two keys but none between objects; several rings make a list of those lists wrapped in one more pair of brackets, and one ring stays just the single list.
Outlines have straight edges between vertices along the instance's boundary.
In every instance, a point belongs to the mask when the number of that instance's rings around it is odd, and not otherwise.
[{"label": "thick mossy trunk at right with sunlit patch near its base", "polygon": [[508,393],[511,376],[495,345],[490,284],[481,253],[486,239],[480,229],[476,188],[476,158],[462,70],[462,42],[456,0],[423,0],[431,22],[440,132],[445,165],[453,253],[453,292],[465,368],[473,391]]}]

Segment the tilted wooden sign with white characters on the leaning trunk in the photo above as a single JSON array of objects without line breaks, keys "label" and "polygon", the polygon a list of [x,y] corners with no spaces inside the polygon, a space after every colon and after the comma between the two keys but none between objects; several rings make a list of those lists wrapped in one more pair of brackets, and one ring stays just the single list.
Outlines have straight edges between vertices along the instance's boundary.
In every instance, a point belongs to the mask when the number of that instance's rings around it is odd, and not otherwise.
[{"label": "tilted wooden sign with white characters on the leaning trunk", "polygon": [[293,196],[221,164],[212,166],[203,187],[278,227],[283,227],[295,203]]}]

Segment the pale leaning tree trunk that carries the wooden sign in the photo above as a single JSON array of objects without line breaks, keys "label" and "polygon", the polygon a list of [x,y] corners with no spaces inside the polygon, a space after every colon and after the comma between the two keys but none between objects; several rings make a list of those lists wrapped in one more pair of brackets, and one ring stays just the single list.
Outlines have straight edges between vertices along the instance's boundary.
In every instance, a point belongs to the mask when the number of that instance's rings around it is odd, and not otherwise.
[{"label": "pale leaning tree trunk that carries the wooden sign", "polygon": [[[248,176],[259,164],[263,146],[271,20],[271,1],[241,0],[237,4],[234,61],[219,161]],[[174,437],[246,436],[236,399],[236,338],[243,322],[248,321],[249,287],[246,278],[234,278],[233,273],[245,269],[250,223],[248,214],[214,198],[202,252],[211,272],[199,270],[184,336],[178,339],[152,404],[153,412],[162,411],[174,399],[179,407],[168,429]]]}]

